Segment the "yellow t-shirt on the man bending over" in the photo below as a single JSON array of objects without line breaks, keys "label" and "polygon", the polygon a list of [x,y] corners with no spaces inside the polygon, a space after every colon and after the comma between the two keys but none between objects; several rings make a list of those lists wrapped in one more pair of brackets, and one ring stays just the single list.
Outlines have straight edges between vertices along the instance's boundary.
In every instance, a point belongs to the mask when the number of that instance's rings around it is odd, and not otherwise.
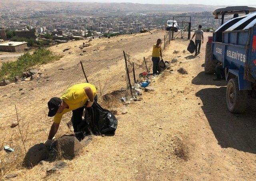
[{"label": "yellow t-shirt on the man bending over", "polygon": [[60,99],[68,104],[68,109],[65,108],[62,113],[56,113],[56,115],[54,115],[54,123],[60,123],[64,113],[84,106],[86,101],[89,99],[84,91],[85,87],[91,88],[92,92],[94,93],[94,97],[96,96],[97,90],[92,84],[82,83],[71,86],[60,97]]}]

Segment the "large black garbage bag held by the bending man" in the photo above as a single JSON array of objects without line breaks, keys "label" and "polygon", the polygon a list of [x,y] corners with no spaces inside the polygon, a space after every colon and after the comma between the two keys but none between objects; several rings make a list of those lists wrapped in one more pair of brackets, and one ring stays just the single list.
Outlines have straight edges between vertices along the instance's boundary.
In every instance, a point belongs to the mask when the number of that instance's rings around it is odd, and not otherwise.
[{"label": "large black garbage bag held by the bending man", "polygon": [[103,109],[95,101],[92,107],[87,107],[86,122],[90,132],[95,135],[114,135],[118,124],[115,115],[107,109]]}]

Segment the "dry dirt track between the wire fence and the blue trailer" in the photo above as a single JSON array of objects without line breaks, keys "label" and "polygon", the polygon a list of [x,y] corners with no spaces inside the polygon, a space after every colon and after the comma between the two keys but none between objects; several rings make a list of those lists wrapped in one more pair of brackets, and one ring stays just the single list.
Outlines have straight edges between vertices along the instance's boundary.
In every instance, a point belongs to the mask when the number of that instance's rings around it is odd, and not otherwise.
[{"label": "dry dirt track between the wire fence and the blue trailer", "polygon": [[[130,45],[138,49],[131,52],[132,57],[150,56],[147,52],[151,51],[151,45],[141,52],[137,43]],[[164,59],[178,57],[178,62],[172,64],[173,73],[165,72],[164,76],[154,79],[154,91],[143,93],[142,101],[116,107],[119,122],[113,137],[95,136],[78,157],[66,161],[69,164],[66,169],[56,174],[45,177],[45,171],[38,165],[20,171],[16,178],[255,180],[255,103],[252,101],[245,114],[228,112],[226,82],[213,81],[214,76],[203,72],[205,44],[202,53],[196,57],[182,52],[187,44],[188,41],[181,40],[171,42],[164,52]],[[112,47],[116,50],[118,44],[116,48],[115,45]],[[180,52],[174,54],[174,50]],[[104,54],[104,48],[101,48],[98,60],[103,61]],[[54,66],[63,64],[58,62]],[[118,73],[122,66],[120,61],[108,65],[100,72],[106,76],[102,79],[108,80],[107,73]],[[179,74],[180,67],[188,74]],[[94,75],[96,73],[91,78]],[[122,114],[124,111],[128,113]]]}]

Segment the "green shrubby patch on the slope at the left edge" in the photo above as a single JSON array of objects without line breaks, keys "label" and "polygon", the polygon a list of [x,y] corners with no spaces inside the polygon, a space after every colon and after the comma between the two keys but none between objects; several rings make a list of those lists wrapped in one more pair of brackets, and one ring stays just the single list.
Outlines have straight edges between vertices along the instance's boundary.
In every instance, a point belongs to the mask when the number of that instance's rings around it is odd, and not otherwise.
[{"label": "green shrubby patch on the slope at the left edge", "polygon": [[22,76],[22,72],[27,71],[30,67],[47,64],[59,60],[61,56],[54,55],[50,50],[40,48],[33,54],[25,53],[15,62],[5,62],[0,68],[0,81],[14,80],[15,76]]}]

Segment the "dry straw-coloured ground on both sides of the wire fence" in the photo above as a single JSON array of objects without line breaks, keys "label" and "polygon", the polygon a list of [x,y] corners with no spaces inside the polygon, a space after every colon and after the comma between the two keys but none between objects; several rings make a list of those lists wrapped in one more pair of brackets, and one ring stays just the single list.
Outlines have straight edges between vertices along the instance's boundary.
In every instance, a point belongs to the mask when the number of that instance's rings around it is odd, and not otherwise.
[{"label": "dry straw-coloured ground on both sides of the wire fence", "polygon": [[[34,120],[23,120],[25,125],[30,123],[26,147],[46,139],[52,123],[46,117],[48,99],[59,95],[68,84],[84,81],[80,65],[76,66],[78,60],[84,62],[89,81],[98,87],[101,82],[102,91],[109,93],[126,86],[122,50],[130,55],[130,62],[136,64],[138,75],[145,70],[143,56],[151,68],[152,44],[164,33],[155,31],[153,34],[93,40],[84,56],[78,56],[82,52],[78,48],[82,41],[53,46],[50,49],[64,57],[39,67],[49,75],[48,81],[41,79],[36,80],[37,83],[0,88],[1,95],[4,89],[16,90],[4,100],[16,100],[19,96],[26,96],[20,97],[21,100],[38,99],[33,105],[23,101],[19,106],[20,110],[26,104],[32,106],[22,110],[20,116],[26,111],[34,115]],[[250,106],[242,115],[228,112],[224,98],[226,82],[215,82],[213,76],[203,72],[205,44],[199,56],[187,52],[187,45],[188,41],[183,40],[170,43],[164,51],[164,60],[176,57],[178,62],[171,64],[173,71],[166,71],[152,80],[154,91],[143,92],[141,101],[129,105],[120,101],[111,105],[102,103],[117,111],[118,128],[114,136],[94,136],[78,157],[65,160],[68,167],[54,174],[46,175],[42,165],[33,169],[17,166],[7,173],[16,173],[14,180],[255,180],[255,107]],[[63,52],[64,48],[70,50]],[[178,73],[181,67],[188,74]],[[64,70],[58,70],[60,68]],[[34,90],[25,89],[25,94],[20,95],[18,88],[26,86],[32,86]],[[40,94],[30,97],[36,93]],[[11,118],[15,119],[15,116]],[[70,133],[66,126],[69,118],[67,115],[62,120],[58,137]],[[3,144],[13,141],[16,145],[20,143],[14,139],[18,130],[10,128],[10,121],[9,118],[0,119],[0,136],[4,138]],[[12,133],[13,140],[10,139]],[[22,145],[18,150],[22,150]],[[12,163],[13,160],[17,163],[19,160],[14,159],[15,155],[16,152],[8,159],[2,151],[2,163]]]}]

